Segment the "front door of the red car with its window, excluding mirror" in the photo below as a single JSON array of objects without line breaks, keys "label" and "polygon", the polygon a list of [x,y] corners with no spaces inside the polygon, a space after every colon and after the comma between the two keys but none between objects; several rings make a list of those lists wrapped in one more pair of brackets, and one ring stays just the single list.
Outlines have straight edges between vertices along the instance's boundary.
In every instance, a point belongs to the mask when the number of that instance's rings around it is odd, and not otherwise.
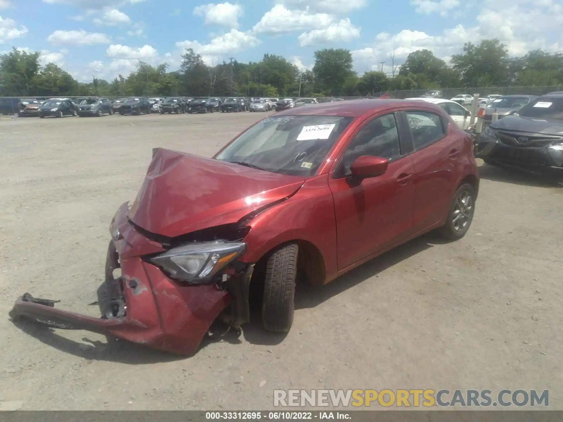
[{"label": "front door of the red car with its window, excluding mirror", "polygon": [[[414,167],[402,144],[395,113],[364,122],[351,136],[329,176],[337,227],[337,266],[343,270],[412,231]],[[387,172],[363,180],[350,165],[363,155],[389,159]]]}]

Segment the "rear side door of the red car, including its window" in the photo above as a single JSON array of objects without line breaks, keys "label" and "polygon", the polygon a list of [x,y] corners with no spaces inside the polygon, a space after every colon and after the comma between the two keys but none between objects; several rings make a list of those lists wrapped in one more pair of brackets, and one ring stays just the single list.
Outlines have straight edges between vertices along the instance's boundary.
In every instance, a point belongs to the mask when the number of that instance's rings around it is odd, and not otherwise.
[{"label": "rear side door of the red car, including its window", "polygon": [[463,137],[450,131],[449,120],[436,111],[405,110],[401,118],[409,129],[414,165],[414,233],[426,230],[443,219],[463,152]]}]

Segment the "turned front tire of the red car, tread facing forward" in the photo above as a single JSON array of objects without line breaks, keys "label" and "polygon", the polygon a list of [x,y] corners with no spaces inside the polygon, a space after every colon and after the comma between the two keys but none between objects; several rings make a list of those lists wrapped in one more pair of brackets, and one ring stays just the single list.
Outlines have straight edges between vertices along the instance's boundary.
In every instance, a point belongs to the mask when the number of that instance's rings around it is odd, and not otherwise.
[{"label": "turned front tire of the red car, tread facing forward", "polygon": [[275,250],[266,262],[262,324],[266,330],[286,332],[293,324],[297,244]]}]

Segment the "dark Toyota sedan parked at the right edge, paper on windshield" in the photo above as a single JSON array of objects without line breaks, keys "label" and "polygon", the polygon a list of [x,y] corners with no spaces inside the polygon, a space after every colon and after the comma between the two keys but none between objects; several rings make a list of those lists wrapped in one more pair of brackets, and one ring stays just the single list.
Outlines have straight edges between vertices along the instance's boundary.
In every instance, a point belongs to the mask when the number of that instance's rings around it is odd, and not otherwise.
[{"label": "dark Toyota sedan parked at the right edge, paper on windshield", "polygon": [[487,164],[563,170],[563,92],[536,98],[481,133],[476,154]]}]

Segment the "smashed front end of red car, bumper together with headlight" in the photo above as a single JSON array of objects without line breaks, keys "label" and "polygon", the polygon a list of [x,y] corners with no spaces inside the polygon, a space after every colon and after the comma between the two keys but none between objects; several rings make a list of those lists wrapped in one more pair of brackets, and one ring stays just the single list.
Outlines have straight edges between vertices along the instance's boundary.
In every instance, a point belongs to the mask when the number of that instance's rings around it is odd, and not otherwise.
[{"label": "smashed front end of red car, bumper together with headlight", "polygon": [[236,261],[245,252],[242,241],[212,240],[203,231],[201,239],[167,243],[169,239],[155,239],[129,221],[128,213],[128,204],[123,204],[111,222],[105,282],[99,289],[100,318],[64,311],[55,307],[56,301],[28,293],[16,300],[10,317],[181,355],[198,349],[220,315],[237,328],[249,321],[253,264]]}]

